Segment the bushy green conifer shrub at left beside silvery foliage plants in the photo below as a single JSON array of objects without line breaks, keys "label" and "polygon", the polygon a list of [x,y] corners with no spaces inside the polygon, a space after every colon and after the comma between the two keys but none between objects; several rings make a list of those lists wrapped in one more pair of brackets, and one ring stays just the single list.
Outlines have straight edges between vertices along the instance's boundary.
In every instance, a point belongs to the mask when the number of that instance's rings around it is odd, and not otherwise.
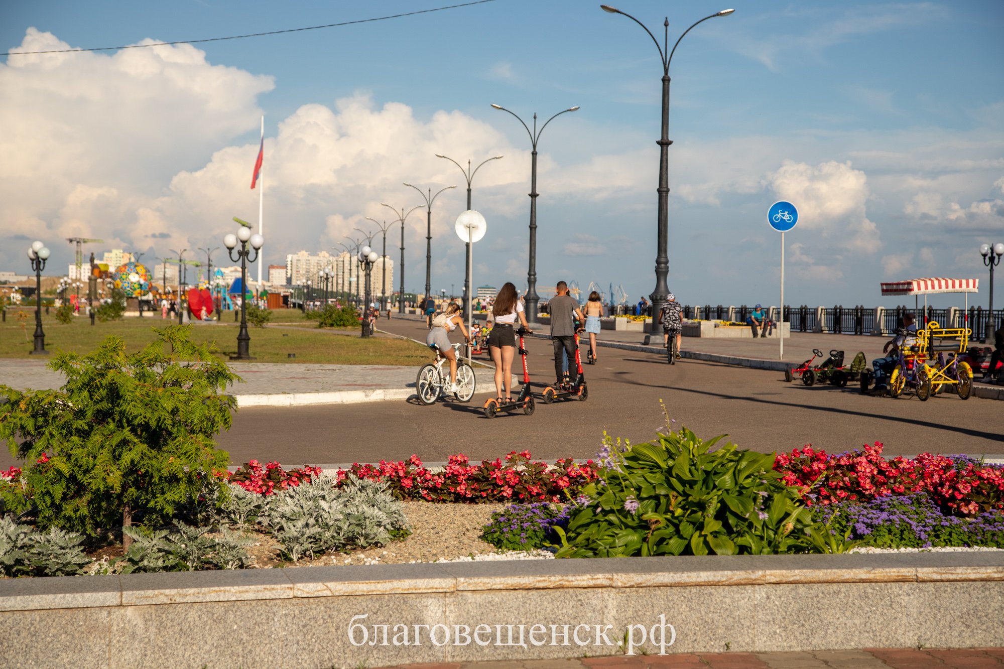
[{"label": "bushy green conifer shrub at left beside silvery foliage plants", "polygon": [[213,436],[230,428],[236,402],[223,392],[240,378],[189,326],[155,330],[136,354],[117,337],[60,354],[49,364],[66,376],[58,391],[0,386],[0,440],[26,462],[24,504],[42,527],[97,536],[134,519],[163,524],[226,469]]}]

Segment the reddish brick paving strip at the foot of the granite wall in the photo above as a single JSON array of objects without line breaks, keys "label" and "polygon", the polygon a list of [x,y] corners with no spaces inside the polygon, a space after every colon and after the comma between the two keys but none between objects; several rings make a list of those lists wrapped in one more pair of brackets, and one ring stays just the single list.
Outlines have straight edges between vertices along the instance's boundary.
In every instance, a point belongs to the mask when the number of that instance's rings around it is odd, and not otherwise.
[{"label": "reddish brick paving strip at the foot of the granite wall", "polygon": [[1004,667],[1004,648],[884,648],[813,653],[682,653],[578,660],[502,660],[400,665],[398,669],[989,669]]}]

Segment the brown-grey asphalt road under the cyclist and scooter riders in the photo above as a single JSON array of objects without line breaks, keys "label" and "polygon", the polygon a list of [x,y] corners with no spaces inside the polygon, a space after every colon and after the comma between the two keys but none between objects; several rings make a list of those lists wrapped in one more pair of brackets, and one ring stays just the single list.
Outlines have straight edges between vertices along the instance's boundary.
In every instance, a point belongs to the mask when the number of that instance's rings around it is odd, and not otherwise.
[{"label": "brown-grey asphalt road under the cyclist and scooter riders", "polygon": [[[424,323],[410,319],[382,319],[378,326],[417,340],[426,333]],[[550,342],[531,338],[527,348],[531,383],[552,382]],[[489,420],[478,403],[427,407],[415,400],[244,409],[219,442],[235,464],[251,458],[291,465],[374,462],[413,453],[427,462],[455,453],[494,459],[524,449],[539,458],[587,458],[604,430],[634,442],[652,438],[666,424],[662,400],[674,427],[685,425],[704,438],[728,434],[764,452],[804,444],[840,452],[878,441],[887,454],[1004,453],[999,401],[954,395],[923,403],[908,396],[893,400],[851,388],[786,384],[777,372],[695,361],[671,367],[665,358],[605,348],[599,356],[596,365],[585,366],[587,401],[538,402],[533,416]],[[514,368],[521,370],[518,357]]]}]

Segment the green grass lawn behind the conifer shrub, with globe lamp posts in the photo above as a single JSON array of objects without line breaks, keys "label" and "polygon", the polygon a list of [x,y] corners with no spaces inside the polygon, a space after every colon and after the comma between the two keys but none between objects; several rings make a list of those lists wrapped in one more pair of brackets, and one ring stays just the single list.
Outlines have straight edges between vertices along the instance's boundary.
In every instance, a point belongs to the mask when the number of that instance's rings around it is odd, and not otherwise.
[{"label": "green grass lawn behind the conifer shrub, with globe lamp posts", "polygon": [[[32,334],[35,331],[35,313],[34,310],[24,313],[27,317],[23,320],[23,330],[17,310],[8,310],[6,322],[0,322],[0,358],[29,358]],[[429,350],[414,342],[380,334],[363,340],[357,332],[320,329],[315,321],[305,319],[295,309],[276,310],[272,320],[278,326],[248,326],[248,333],[251,336],[250,352],[257,363],[417,367],[428,363],[430,358]],[[89,353],[109,334],[122,338],[130,351],[139,351],[156,339],[154,327],[163,327],[169,322],[177,320],[163,320],[158,314],[154,317],[146,315],[143,318],[97,321],[91,326],[89,318],[75,316],[72,322],[63,325],[56,321],[54,309],[48,316],[42,313],[45,348],[53,353]],[[287,326],[282,326],[283,324]],[[293,324],[302,324],[303,328],[288,326]],[[233,321],[230,312],[224,313],[221,322],[198,323],[190,327],[194,341],[215,343],[222,357],[237,353],[239,324]],[[296,354],[296,358],[289,358],[290,353]]]}]

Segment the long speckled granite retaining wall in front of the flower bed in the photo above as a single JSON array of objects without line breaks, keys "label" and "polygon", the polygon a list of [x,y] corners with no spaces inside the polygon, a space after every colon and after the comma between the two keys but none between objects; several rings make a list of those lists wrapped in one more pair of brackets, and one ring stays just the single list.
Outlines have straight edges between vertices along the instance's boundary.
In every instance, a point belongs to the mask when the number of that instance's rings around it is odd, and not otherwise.
[{"label": "long speckled granite retaining wall in front of the flower bed", "polygon": [[[0,581],[19,667],[360,667],[1004,645],[1004,552],[314,567]],[[653,641],[653,637],[656,637]]]}]

